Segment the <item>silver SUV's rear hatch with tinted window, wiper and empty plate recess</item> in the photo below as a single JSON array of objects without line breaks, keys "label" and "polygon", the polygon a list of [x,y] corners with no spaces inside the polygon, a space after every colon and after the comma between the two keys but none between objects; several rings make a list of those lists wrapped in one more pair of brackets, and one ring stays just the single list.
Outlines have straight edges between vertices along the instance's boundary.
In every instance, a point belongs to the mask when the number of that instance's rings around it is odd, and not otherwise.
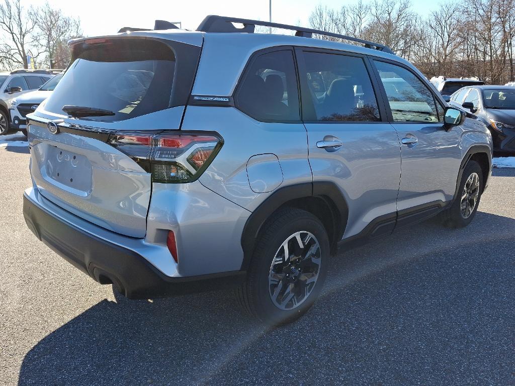
[{"label": "silver SUV's rear hatch with tinted window, wiper and empty plate recess", "polygon": [[144,237],[149,133],[180,128],[201,41],[200,34],[198,45],[140,34],[74,42],[62,80],[28,116],[41,194],[106,229]]}]

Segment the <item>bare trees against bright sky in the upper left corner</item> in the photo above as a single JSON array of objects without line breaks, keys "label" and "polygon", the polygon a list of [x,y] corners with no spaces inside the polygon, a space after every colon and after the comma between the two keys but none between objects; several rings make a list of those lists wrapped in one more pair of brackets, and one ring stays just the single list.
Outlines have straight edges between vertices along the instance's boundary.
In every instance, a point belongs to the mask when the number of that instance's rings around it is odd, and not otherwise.
[{"label": "bare trees against bright sky in the upper left corner", "polygon": [[80,19],[48,3],[25,7],[21,0],[0,1],[0,69],[65,68],[70,61],[67,41],[81,37]]}]

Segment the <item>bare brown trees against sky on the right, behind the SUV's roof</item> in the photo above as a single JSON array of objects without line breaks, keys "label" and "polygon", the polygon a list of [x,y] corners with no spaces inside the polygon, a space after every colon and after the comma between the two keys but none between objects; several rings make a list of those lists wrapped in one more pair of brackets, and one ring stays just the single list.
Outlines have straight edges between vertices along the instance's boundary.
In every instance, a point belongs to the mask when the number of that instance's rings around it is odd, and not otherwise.
[{"label": "bare brown trees against sky on the right, behind the SUV's roof", "polygon": [[415,12],[409,0],[358,0],[340,9],[319,5],[309,22],[316,29],[387,45],[427,78],[514,80],[515,0],[449,1],[427,15]]}]

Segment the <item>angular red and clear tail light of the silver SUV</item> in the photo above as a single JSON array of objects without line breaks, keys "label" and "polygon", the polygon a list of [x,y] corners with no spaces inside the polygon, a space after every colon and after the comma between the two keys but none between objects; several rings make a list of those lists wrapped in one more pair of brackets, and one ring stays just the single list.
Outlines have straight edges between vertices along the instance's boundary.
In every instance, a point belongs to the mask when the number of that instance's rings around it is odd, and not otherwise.
[{"label": "angular red and clear tail light of the silver SUV", "polygon": [[200,177],[224,141],[212,132],[131,132],[111,134],[108,144],[150,172],[153,182],[186,183]]}]

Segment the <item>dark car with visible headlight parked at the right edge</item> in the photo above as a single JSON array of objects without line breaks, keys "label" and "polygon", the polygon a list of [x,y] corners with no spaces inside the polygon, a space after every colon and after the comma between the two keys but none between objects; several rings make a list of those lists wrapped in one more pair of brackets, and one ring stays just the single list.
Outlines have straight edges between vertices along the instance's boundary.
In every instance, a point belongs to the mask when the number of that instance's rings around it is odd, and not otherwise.
[{"label": "dark car with visible headlight parked at the right edge", "polygon": [[463,87],[450,104],[469,110],[490,129],[494,151],[515,153],[515,87]]}]

